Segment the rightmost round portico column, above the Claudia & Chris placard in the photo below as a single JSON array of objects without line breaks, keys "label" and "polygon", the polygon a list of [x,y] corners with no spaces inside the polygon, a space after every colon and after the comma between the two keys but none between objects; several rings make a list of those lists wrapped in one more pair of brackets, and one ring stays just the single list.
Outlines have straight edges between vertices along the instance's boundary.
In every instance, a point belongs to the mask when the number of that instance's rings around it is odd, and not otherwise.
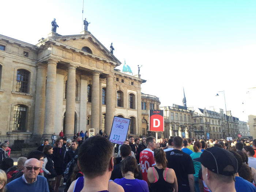
[{"label": "rightmost round portico column, above the Claudia & Chris placard", "polygon": [[110,135],[111,126],[113,123],[113,117],[114,117],[114,84],[113,84],[113,76],[108,75],[107,76],[107,83],[106,83],[106,118],[105,118],[105,124],[106,124],[106,133]]}]

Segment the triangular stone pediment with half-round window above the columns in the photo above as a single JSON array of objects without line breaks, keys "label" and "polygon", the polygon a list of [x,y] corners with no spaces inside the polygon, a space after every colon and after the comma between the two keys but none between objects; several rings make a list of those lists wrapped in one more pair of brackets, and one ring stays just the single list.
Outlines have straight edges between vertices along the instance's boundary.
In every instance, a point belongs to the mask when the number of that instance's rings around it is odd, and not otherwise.
[{"label": "triangular stone pediment with half-round window above the columns", "polygon": [[[110,53],[110,51],[105,46],[103,46],[101,42],[99,42],[98,39],[96,39],[89,31],[85,31],[84,34],[79,35],[55,34],[48,37],[48,40],[52,41],[53,44],[56,42],[56,44],[60,44],[63,47],[67,46],[69,49],[73,48],[76,51],[84,52],[101,59],[112,61],[116,63],[117,66],[121,64],[121,62],[112,53]],[[83,48],[89,48],[91,53],[87,52]]]}]

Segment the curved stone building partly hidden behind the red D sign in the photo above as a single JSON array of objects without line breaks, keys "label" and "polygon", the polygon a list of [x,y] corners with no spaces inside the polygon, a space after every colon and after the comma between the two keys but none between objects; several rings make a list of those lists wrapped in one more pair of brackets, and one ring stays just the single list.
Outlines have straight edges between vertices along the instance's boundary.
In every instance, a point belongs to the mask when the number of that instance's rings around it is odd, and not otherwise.
[{"label": "curved stone building partly hidden behind the red D sign", "polygon": [[[141,109],[142,109],[142,136],[143,135],[152,135],[148,132],[148,110],[158,110],[160,105],[159,98],[153,95],[141,94]],[[159,134],[162,136],[163,133]],[[153,134],[152,136],[155,136]]]}]

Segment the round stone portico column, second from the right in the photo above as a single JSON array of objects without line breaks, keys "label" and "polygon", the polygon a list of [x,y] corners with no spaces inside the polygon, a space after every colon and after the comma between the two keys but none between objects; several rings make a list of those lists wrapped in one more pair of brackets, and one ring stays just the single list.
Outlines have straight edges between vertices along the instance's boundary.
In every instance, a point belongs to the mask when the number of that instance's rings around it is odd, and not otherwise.
[{"label": "round stone portico column, second from the right", "polygon": [[95,135],[99,133],[99,72],[93,72],[93,84],[91,89],[91,129]]}]

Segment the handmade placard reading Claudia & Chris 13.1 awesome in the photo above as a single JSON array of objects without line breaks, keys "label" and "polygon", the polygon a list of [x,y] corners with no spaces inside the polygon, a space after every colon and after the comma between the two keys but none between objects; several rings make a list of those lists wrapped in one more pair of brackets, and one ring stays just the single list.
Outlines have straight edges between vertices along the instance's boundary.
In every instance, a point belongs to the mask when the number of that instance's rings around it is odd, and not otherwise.
[{"label": "handmade placard reading Claudia & Chris 13.1 awesome", "polygon": [[123,144],[126,140],[130,119],[114,116],[109,140],[111,143]]}]

